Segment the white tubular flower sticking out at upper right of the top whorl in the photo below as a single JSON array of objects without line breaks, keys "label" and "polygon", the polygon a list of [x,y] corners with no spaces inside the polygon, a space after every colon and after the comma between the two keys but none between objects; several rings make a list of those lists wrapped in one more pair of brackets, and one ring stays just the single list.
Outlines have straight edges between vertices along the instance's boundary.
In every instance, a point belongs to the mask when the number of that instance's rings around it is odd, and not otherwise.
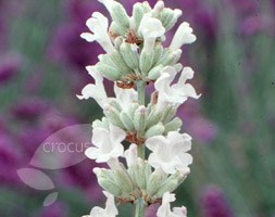
[{"label": "white tubular flower sticking out at upper right of the top whorl", "polygon": [[177,50],[179,49],[183,44],[186,43],[192,43],[196,41],[196,36],[192,34],[192,28],[187,22],[184,22],[177,29],[170,49],[172,50]]}]

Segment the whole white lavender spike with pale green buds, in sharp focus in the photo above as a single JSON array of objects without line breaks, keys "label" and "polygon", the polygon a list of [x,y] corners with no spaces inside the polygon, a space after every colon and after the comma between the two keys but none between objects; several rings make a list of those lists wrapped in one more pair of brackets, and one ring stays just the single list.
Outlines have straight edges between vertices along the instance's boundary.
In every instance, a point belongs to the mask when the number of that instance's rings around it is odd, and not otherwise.
[{"label": "whole white lavender spike with pale green buds, in sharp focus", "polygon": [[[117,1],[98,1],[109,11],[111,25],[95,12],[87,21],[91,33],[80,37],[97,41],[105,53],[98,56],[95,66],[87,66],[95,84],[87,85],[77,98],[92,98],[103,110],[104,117],[92,123],[93,146],[85,154],[109,166],[93,168],[108,202],[104,209],[93,207],[89,217],[116,216],[115,200],[136,204],[139,217],[145,217],[149,204],[160,201],[158,217],[186,217],[184,206],[171,210],[170,203],[175,201],[172,192],[184,182],[192,163],[187,153],[191,137],[179,132],[183,122],[176,113],[188,98],[200,97],[186,84],[193,71],[178,63],[182,46],[196,41],[193,30],[184,22],[165,48],[165,34],[176,24],[180,10],[165,8],[163,1],[153,8],[137,2],[129,16]],[[114,97],[107,94],[104,78],[114,81]],[[155,91],[147,103],[150,82],[154,82]]]}]

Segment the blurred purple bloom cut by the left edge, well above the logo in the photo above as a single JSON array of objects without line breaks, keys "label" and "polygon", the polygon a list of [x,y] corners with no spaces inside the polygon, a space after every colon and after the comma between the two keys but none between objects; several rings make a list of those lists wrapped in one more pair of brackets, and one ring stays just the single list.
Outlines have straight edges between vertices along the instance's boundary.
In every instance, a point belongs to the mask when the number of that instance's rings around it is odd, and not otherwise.
[{"label": "blurred purple bloom cut by the left edge, well above the logo", "polygon": [[15,55],[0,56],[0,84],[9,81],[20,69],[22,61]]}]

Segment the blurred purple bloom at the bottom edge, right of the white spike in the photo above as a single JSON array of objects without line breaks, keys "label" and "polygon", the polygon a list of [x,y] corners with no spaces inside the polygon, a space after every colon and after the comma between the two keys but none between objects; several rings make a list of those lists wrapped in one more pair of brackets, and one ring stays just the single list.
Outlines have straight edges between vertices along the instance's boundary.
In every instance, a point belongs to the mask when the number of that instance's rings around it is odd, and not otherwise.
[{"label": "blurred purple bloom at the bottom edge, right of the white spike", "polygon": [[203,217],[234,217],[224,192],[216,186],[208,187],[202,193]]}]

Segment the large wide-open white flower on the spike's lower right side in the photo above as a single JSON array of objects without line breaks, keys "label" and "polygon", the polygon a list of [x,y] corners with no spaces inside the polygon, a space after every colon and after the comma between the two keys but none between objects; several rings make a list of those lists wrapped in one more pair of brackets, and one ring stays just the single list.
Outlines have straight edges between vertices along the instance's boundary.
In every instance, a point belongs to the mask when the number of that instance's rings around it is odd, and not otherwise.
[{"label": "large wide-open white flower on the spike's lower right side", "polygon": [[186,153],[191,149],[189,135],[170,131],[166,137],[149,138],[146,146],[152,151],[148,162],[155,169],[161,168],[166,174],[175,174],[177,170],[189,171],[188,165],[192,163],[192,156]]}]

